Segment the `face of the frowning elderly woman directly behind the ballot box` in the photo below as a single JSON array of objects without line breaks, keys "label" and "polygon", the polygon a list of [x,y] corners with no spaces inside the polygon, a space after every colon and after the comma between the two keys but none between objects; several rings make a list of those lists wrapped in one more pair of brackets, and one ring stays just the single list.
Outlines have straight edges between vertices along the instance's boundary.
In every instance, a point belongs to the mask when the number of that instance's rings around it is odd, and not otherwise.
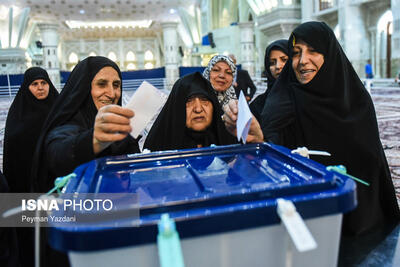
[{"label": "face of the frowning elderly woman directly behind the ballot box", "polygon": [[212,123],[213,105],[202,95],[194,95],[186,101],[186,127],[204,131]]}]

